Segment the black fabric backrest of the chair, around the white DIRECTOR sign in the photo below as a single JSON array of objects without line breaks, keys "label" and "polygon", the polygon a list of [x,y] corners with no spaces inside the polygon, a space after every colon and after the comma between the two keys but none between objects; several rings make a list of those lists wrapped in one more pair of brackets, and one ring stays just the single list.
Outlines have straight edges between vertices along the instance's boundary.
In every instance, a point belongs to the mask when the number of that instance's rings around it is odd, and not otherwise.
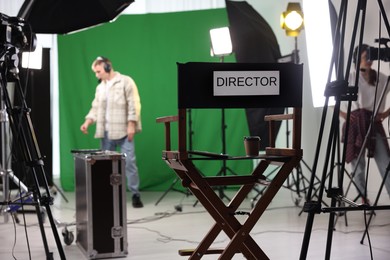
[{"label": "black fabric backrest of the chair, around the white DIRECTOR sign", "polygon": [[178,63],[178,107],[302,107],[302,77],[302,64]]}]

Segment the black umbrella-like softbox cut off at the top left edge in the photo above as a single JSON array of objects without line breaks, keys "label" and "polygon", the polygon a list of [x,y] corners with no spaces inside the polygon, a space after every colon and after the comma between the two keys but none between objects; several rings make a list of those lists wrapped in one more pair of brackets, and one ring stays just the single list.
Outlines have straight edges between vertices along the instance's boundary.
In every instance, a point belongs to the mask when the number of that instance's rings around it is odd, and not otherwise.
[{"label": "black umbrella-like softbox cut off at the top left edge", "polygon": [[26,0],[18,17],[35,33],[67,34],[114,20],[134,0]]}]

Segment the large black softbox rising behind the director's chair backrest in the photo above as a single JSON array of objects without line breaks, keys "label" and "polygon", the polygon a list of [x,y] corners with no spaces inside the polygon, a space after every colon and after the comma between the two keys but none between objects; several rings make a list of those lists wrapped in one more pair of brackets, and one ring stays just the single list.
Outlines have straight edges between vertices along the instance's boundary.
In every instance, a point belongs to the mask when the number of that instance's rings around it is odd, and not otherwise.
[{"label": "large black softbox rising behind the director's chair backrest", "polygon": [[[247,2],[226,1],[233,52],[237,62],[274,63],[282,56],[267,21]],[[283,114],[283,107],[245,109],[250,135],[261,137],[260,150],[269,146],[265,115]],[[280,128],[280,121],[276,129]]]}]

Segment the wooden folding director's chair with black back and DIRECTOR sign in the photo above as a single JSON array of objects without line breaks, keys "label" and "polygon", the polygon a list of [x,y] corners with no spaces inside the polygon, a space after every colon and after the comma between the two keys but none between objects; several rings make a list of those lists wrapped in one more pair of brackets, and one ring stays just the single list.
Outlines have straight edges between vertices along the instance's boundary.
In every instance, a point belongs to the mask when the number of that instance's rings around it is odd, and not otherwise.
[{"label": "wooden folding director's chair with black back and DIRECTOR sign", "polygon": [[[245,71],[249,74],[260,72],[277,73],[278,93],[228,95],[215,94],[215,78],[218,72],[235,73]],[[301,110],[302,110],[302,65],[297,64],[257,64],[257,63],[178,63],[178,115],[157,118],[165,125],[165,149],[162,159],[181,179],[215,220],[215,224],[205,235],[196,249],[179,250],[182,256],[200,259],[205,254],[220,254],[220,259],[231,259],[234,254],[242,253],[247,259],[268,259],[260,246],[251,237],[250,232],[258,222],[272,199],[275,197],[292,170],[302,158],[301,149]],[[246,74],[245,74],[246,75]],[[233,86],[234,87],[234,86]],[[263,86],[264,87],[264,86]],[[187,150],[186,110],[202,108],[247,108],[247,107],[292,107],[292,113],[268,115],[270,147],[258,156],[231,156],[208,151]],[[280,120],[292,120],[291,147],[275,147],[276,134],[274,124]],[[171,124],[178,124],[178,147],[171,147]],[[198,133],[202,134],[202,133]],[[241,137],[238,137],[241,138]],[[204,176],[194,165],[196,160],[248,160],[260,159],[260,163],[246,175]],[[280,167],[272,180],[266,180],[263,173],[269,165]],[[255,185],[268,185],[261,198],[251,209],[244,223],[235,217],[235,212]],[[239,186],[237,193],[225,205],[213,187]],[[229,244],[223,249],[210,248],[213,241],[223,231],[229,238]]]}]

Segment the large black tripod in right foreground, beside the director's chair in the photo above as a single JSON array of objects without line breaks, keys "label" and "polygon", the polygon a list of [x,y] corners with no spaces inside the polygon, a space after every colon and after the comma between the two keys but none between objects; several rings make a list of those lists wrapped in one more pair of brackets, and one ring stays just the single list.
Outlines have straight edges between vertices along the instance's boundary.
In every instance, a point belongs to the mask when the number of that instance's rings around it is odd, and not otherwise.
[{"label": "large black tripod in right foreground, beside the director's chair", "polygon": [[[360,67],[360,48],[362,46],[363,42],[363,33],[364,33],[364,25],[365,25],[365,15],[366,15],[366,1],[360,0],[358,1],[358,5],[356,8],[356,16],[354,21],[354,26],[352,30],[352,40],[350,44],[350,49],[348,53],[348,62],[345,70],[345,74],[343,72],[344,66],[342,64],[343,58],[341,55],[343,55],[343,46],[344,46],[344,35],[345,35],[345,20],[346,14],[347,14],[347,3],[348,1],[343,0],[341,2],[340,6],[340,15],[338,16],[338,21],[336,25],[335,30],[335,38],[334,38],[334,49],[332,54],[332,62],[328,74],[328,84],[326,85],[325,89],[325,106],[323,109],[323,115],[321,118],[321,125],[320,125],[320,131],[319,131],[319,137],[317,141],[317,148],[315,153],[315,160],[313,164],[313,174],[311,176],[310,186],[308,190],[308,196],[307,201],[304,206],[305,212],[308,213],[307,216],[307,222],[306,222],[306,228],[305,233],[303,237],[303,243],[301,248],[301,254],[300,259],[306,259],[307,257],[307,251],[309,247],[309,241],[311,236],[311,229],[313,227],[314,222],[314,216],[315,214],[320,213],[329,213],[329,223],[328,223],[328,235],[327,235],[327,244],[326,244],[326,252],[325,252],[325,259],[330,259],[330,252],[331,252],[331,245],[332,245],[332,236],[334,231],[334,219],[335,219],[335,212],[337,211],[349,211],[349,210],[372,210],[372,209],[390,209],[390,206],[383,206],[383,207],[371,207],[367,204],[358,205],[354,203],[353,201],[347,199],[343,195],[343,180],[344,180],[344,167],[345,167],[345,161],[346,161],[346,151],[347,151],[347,145],[344,145],[343,147],[343,155],[341,160],[341,170],[338,171],[339,176],[336,176],[337,178],[334,178],[333,171],[329,172],[329,176],[327,178],[327,172],[328,172],[328,166],[331,163],[331,165],[334,165],[335,161],[335,147],[338,141],[338,129],[339,129],[339,116],[340,116],[340,103],[341,101],[348,101],[348,109],[346,113],[346,123],[345,123],[345,129],[344,129],[344,138],[345,140],[348,140],[349,135],[349,127],[350,127],[350,119],[351,119],[351,107],[352,107],[352,101],[357,100],[357,94],[358,94],[358,82],[359,82],[359,67]],[[383,4],[380,0],[378,0],[379,7],[381,10],[381,14],[383,15],[383,18],[385,20],[385,24],[387,27],[387,31],[390,32],[390,26],[389,22],[386,17],[386,13],[383,8]],[[354,86],[349,87],[348,86],[348,80],[347,77],[350,74],[351,69],[351,61],[352,61],[352,55],[353,55],[353,47],[355,44],[355,38],[358,31],[358,22],[361,16],[360,20],[360,35],[359,35],[359,41],[358,41],[358,55],[357,56],[357,69],[356,69],[356,77],[354,81]],[[335,63],[335,64],[333,64]],[[333,71],[333,65],[335,65],[336,69],[336,76],[337,80],[331,82],[331,75]],[[335,106],[334,106],[334,113],[332,116],[332,121],[330,124],[330,131],[329,131],[329,138],[326,146],[326,154],[324,159],[324,168],[321,175],[321,186],[319,189],[319,195],[318,201],[311,200],[311,193],[313,190],[313,183],[314,183],[314,176],[316,174],[317,165],[318,165],[318,158],[320,154],[320,147],[322,142],[322,137],[324,134],[324,127],[325,127],[325,119],[327,114],[327,108],[328,108],[328,102],[329,98],[334,97],[335,98]],[[374,113],[377,113],[377,110]],[[366,139],[365,139],[366,140]],[[364,144],[363,144],[364,147]],[[361,152],[360,152],[361,153]],[[340,174],[341,173],[341,174]],[[322,208],[322,197],[324,194],[325,189],[325,182],[326,178],[328,179],[328,187],[327,187],[327,197],[331,199],[331,206],[327,208]],[[336,207],[337,202],[345,202],[348,203],[352,207]]]}]

